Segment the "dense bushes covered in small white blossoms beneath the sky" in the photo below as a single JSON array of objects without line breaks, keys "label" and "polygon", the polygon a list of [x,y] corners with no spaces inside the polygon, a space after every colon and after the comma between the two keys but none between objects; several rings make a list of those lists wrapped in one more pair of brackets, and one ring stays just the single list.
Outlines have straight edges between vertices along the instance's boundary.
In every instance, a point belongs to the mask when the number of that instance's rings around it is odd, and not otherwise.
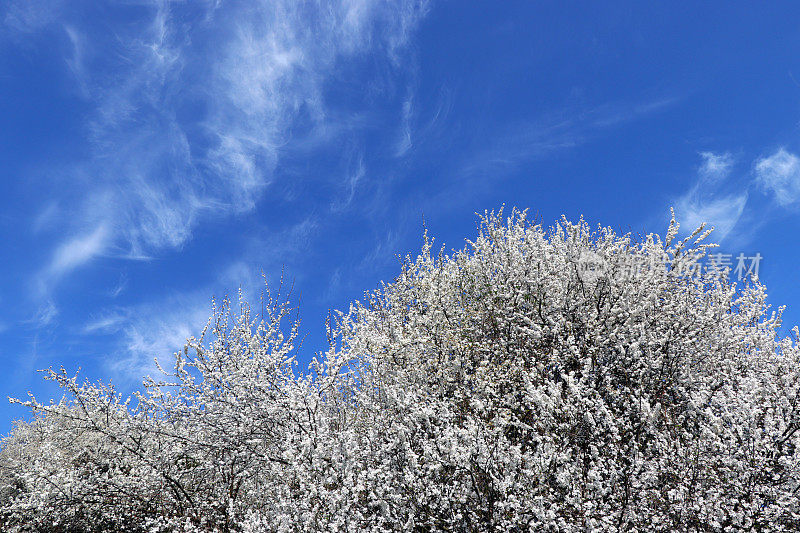
[{"label": "dense bushes covered in small white blossoms beneath the sky", "polygon": [[307,370],[269,296],[131,399],[51,370],[65,399],[3,441],[0,526],[797,531],[798,330],[758,280],[687,275],[709,232],[677,234],[486,214],[335,314]]}]

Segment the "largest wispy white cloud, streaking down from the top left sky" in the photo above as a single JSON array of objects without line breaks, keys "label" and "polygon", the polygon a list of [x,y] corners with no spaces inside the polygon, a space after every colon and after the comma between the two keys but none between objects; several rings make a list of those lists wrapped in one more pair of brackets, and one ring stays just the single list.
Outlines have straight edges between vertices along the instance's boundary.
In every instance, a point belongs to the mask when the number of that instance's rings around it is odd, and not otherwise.
[{"label": "largest wispy white cloud, streaking down from the top left sky", "polygon": [[[325,99],[339,63],[373,53],[398,64],[427,9],[414,0],[218,4],[143,1],[102,35],[84,27],[86,5],[13,2],[3,12],[10,32],[61,27],[64,61],[94,106],[90,154],[69,179],[78,201],[57,214],[72,233],[105,229],[60,245],[52,273],[101,249],[138,258],[180,247],[199,221],[252,210],[282,152],[303,142],[298,117],[313,132],[346,130]],[[88,61],[98,50],[102,61]],[[349,191],[359,168],[345,178]]]}]

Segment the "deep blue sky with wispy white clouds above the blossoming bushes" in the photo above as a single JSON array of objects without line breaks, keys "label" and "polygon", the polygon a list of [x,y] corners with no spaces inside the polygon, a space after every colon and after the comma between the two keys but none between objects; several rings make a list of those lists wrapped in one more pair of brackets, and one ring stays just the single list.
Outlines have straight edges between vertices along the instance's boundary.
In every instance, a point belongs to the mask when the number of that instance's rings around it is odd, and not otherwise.
[{"label": "deep blue sky with wispy white clouds above the blossoming bushes", "polygon": [[[329,309],[424,224],[528,208],[708,221],[800,322],[800,8],[770,3],[7,0],[3,396],[63,364],[123,390],[261,272]],[[0,433],[24,409],[0,405]]]}]

